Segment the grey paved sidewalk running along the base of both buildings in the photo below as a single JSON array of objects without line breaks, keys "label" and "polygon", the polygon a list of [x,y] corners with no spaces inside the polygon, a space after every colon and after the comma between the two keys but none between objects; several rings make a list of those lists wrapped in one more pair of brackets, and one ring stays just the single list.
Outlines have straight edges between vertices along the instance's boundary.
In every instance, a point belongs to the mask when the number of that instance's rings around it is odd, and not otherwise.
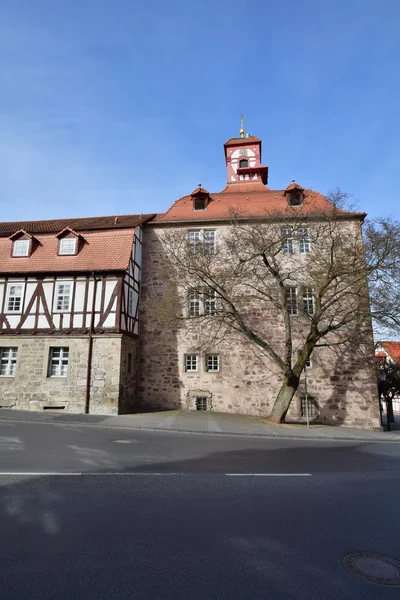
[{"label": "grey paved sidewalk running along the base of both buildings", "polygon": [[310,429],[307,429],[305,425],[272,426],[263,423],[257,417],[246,415],[177,410],[110,417],[1,409],[0,422],[1,420],[279,439],[400,442],[400,428],[395,431],[380,432],[350,427],[311,425]]}]

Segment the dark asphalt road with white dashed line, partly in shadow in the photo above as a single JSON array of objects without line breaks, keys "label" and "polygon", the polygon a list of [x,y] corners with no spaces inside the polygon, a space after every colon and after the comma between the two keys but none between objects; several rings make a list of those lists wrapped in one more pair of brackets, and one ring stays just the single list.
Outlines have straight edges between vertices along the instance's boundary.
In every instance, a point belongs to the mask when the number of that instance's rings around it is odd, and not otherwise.
[{"label": "dark asphalt road with white dashed line, partly in shadow", "polygon": [[0,598],[386,599],[400,444],[0,422]]}]

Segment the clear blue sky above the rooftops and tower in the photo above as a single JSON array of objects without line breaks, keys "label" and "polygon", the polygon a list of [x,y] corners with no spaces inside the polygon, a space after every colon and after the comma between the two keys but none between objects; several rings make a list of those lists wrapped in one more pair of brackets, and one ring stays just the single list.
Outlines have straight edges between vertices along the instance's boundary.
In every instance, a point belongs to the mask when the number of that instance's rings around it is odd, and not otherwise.
[{"label": "clear blue sky above the rooftops and tower", "polygon": [[396,215],[399,22],[398,0],[2,0],[1,220],[219,191],[241,112],[271,188]]}]

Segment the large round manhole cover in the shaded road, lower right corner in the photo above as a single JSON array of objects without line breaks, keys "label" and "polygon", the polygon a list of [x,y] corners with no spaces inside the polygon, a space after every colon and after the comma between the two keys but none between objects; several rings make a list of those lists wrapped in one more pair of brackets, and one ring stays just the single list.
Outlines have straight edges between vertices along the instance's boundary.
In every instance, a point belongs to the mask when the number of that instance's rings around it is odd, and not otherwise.
[{"label": "large round manhole cover in the shaded road, lower right corner", "polygon": [[371,583],[400,586],[400,562],[389,556],[356,552],[346,554],[342,563],[347,571]]}]

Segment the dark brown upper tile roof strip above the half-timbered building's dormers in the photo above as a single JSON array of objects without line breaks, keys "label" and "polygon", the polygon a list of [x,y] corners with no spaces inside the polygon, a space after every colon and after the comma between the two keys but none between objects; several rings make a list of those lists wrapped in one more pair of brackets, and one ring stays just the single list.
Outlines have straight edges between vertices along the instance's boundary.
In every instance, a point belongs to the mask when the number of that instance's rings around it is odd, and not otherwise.
[{"label": "dark brown upper tile roof strip above the half-timbered building's dormers", "polygon": [[66,227],[74,231],[94,231],[99,229],[126,229],[136,227],[152,219],[155,215],[114,215],[109,217],[80,217],[71,219],[50,219],[49,221],[18,221],[0,223],[0,235],[12,235],[23,229],[32,233],[59,233]]}]

